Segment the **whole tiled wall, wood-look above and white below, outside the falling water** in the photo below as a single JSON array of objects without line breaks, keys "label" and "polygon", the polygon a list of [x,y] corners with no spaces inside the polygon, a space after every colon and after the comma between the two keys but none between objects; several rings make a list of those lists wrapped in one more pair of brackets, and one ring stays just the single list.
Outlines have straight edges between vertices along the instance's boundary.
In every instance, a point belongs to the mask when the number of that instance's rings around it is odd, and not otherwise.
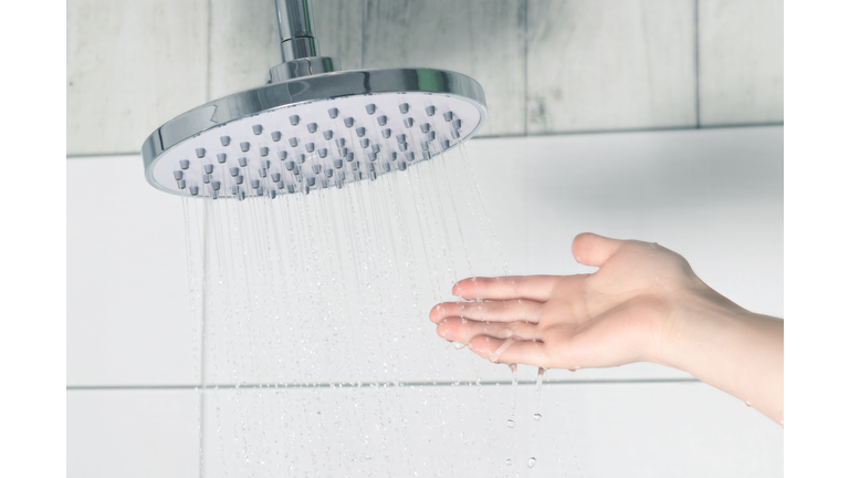
[{"label": "whole tiled wall, wood-look above and white below, outside the falling water", "polygon": [[[586,271],[569,254],[585,230],[654,240],[743,306],[783,315],[783,128],[699,129],[783,122],[780,1],[313,4],[322,51],[344,67],[434,66],[483,84],[491,116],[468,148],[513,272]],[[135,152],[170,117],[262,83],[279,62],[271,0],[72,0],[67,12],[67,474],[222,476],[227,446],[209,433],[201,443],[198,427],[234,417],[213,417],[201,377],[210,364],[188,319],[180,200],[144,181]],[[659,131],[670,128],[685,131]],[[557,428],[544,436],[558,438],[516,438],[542,454],[538,476],[572,472],[564,433],[586,477],[782,474],[782,429],[684,373],[635,364],[551,378],[546,417],[557,418],[544,423]],[[332,395],[311,393],[286,399],[328,406]],[[433,401],[384,404],[390,416],[463,417]],[[421,441],[408,459],[464,471],[427,436],[390,438]],[[458,453],[494,453],[479,448]]]}]

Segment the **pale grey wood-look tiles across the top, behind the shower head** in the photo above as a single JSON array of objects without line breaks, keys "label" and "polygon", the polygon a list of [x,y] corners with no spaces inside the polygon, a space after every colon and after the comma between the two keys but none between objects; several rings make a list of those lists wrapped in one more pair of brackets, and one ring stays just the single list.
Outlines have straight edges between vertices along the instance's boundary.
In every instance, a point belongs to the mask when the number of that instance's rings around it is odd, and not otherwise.
[{"label": "pale grey wood-look tiles across the top, behind the shower head", "polygon": [[[314,0],[345,69],[483,85],[485,136],[780,124],[780,0]],[[263,83],[271,0],[71,0],[67,154],[132,153],[171,117]]]}]

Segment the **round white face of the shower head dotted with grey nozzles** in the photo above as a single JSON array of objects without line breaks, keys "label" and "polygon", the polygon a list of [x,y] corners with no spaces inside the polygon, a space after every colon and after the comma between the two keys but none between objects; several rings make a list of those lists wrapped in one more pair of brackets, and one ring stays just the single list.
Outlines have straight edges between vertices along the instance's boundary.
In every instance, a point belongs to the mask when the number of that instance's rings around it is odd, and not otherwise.
[{"label": "round white face of the shower head dotted with grey nozzles", "polygon": [[[347,73],[363,71],[287,83]],[[239,199],[271,197],[271,191],[276,191],[274,196],[308,194],[406,170],[468,139],[485,122],[482,89],[474,80],[459,76],[461,84],[476,85],[480,94],[469,94],[468,87],[462,92],[371,91],[283,104],[213,125],[154,155],[151,141],[164,143],[164,133],[174,136],[172,131],[164,132],[166,124],[143,147],[145,176],[154,187],[171,194]],[[213,102],[217,112],[227,100]],[[203,114],[209,116],[208,111]],[[180,125],[181,118],[174,122]],[[334,169],[337,174],[327,176]]]}]

